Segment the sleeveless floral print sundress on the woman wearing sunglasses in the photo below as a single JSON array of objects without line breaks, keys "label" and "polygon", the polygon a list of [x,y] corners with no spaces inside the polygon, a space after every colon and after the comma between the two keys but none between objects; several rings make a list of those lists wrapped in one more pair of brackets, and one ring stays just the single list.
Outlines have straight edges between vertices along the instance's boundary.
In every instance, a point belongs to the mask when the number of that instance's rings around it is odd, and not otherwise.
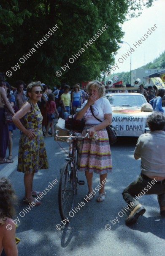
[{"label": "sleeveless floral print sundress on the woman wearing sunglasses", "polygon": [[43,117],[38,105],[30,100],[27,102],[30,103],[32,111],[24,115],[22,124],[26,129],[35,131],[35,138],[31,140],[22,132],[19,140],[17,171],[32,174],[40,169],[48,169],[48,159],[42,132]]}]

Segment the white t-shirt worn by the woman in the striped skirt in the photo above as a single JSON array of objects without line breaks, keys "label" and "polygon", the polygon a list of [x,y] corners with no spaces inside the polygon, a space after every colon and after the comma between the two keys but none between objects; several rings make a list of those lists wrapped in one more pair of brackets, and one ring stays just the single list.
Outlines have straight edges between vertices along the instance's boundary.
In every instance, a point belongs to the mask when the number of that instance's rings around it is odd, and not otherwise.
[{"label": "white t-shirt worn by the woman in the striped skirt", "polygon": [[[87,101],[85,101],[81,109],[87,104]],[[99,98],[95,103],[92,105],[92,110],[94,115],[99,118],[101,121],[103,121],[104,114],[112,114],[112,107],[109,103],[107,98]],[[85,115],[85,124],[100,124],[100,122],[92,115],[90,107],[86,111]]]}]

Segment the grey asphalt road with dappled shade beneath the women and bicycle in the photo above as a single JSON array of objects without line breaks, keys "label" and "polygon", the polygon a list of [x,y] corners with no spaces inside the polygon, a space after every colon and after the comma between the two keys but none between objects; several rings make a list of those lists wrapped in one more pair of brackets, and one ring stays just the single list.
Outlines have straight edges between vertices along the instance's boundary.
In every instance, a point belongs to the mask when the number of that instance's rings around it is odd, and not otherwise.
[{"label": "grey asphalt road with dappled shade beneath the women and bicycle", "polygon": [[[135,180],[140,173],[140,160],[134,160],[135,138],[119,138],[111,146],[113,171],[108,174],[104,202],[97,203],[96,196],[86,202],[88,189],[78,185],[75,207],[82,201],[85,205],[78,210],[70,223],[60,231],[56,225],[61,223],[58,210],[58,183],[41,199],[40,206],[34,206],[27,212],[28,205],[22,202],[24,197],[23,174],[16,172],[20,132],[14,131],[14,163],[1,164],[0,176],[8,177],[18,196],[16,216],[18,228],[16,236],[21,239],[18,244],[19,256],[164,256],[165,255],[165,219],[160,217],[156,195],[143,195],[140,203],[146,213],[130,227],[125,225],[127,214],[119,213],[126,203],[122,191],[128,183]],[[34,188],[43,191],[49,182],[60,178],[60,168],[66,156],[52,137],[45,138],[49,169],[41,170],[34,177]],[[67,150],[68,145],[62,143]],[[8,152],[7,152],[8,156]],[[80,173],[80,180],[85,180]],[[99,177],[94,174],[93,187],[99,184]],[[27,212],[25,213],[23,209]],[[115,219],[118,219],[115,221]],[[19,219],[19,221],[18,221]],[[110,230],[105,230],[108,224]]]}]

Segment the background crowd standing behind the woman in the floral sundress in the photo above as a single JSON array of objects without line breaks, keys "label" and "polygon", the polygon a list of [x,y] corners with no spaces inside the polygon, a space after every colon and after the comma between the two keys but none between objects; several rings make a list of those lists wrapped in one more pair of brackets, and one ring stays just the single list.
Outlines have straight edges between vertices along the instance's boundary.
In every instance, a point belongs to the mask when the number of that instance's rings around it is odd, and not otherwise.
[{"label": "background crowd standing behind the woman in the floral sundress", "polygon": [[[77,107],[81,107],[88,94],[80,89],[80,84],[76,83],[70,88],[65,83],[54,87],[52,90],[49,85],[41,84],[42,95],[37,104],[43,117],[42,132],[44,137],[54,136],[54,120],[62,117],[66,119],[69,114],[76,113]],[[4,90],[3,90],[4,89]],[[0,118],[1,118],[1,134],[0,139],[0,163],[13,163],[12,154],[12,137],[16,129],[16,125],[12,120],[7,120],[5,117],[6,109],[11,115],[17,113],[24,103],[29,99],[27,95],[27,84],[23,81],[17,81],[16,87],[10,86],[5,81],[5,76],[0,73]],[[51,131],[49,131],[51,129]],[[21,134],[22,131],[20,130]],[[8,157],[6,158],[6,150],[8,147]]]}]

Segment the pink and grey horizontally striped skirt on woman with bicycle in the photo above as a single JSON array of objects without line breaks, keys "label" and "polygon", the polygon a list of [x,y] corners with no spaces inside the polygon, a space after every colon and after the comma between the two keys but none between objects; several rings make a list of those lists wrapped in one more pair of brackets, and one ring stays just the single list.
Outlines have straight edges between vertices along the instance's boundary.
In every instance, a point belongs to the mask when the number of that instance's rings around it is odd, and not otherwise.
[{"label": "pink and grey horizontally striped skirt on woman with bicycle", "polygon": [[[94,125],[86,125],[82,135],[86,135],[87,129]],[[95,172],[105,174],[112,171],[111,149],[106,129],[96,131],[98,140],[89,138],[80,140],[78,153],[78,169],[80,172]]]}]

